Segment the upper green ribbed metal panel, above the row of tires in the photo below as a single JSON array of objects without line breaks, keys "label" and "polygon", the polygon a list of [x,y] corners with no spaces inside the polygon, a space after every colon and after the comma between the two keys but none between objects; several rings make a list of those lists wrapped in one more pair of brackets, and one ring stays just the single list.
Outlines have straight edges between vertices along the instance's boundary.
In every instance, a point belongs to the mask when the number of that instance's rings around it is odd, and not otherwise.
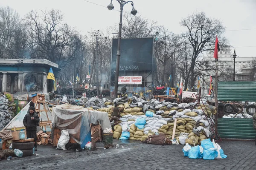
[{"label": "upper green ribbed metal panel, above the row of tires", "polygon": [[256,102],[256,82],[218,82],[218,100]]}]

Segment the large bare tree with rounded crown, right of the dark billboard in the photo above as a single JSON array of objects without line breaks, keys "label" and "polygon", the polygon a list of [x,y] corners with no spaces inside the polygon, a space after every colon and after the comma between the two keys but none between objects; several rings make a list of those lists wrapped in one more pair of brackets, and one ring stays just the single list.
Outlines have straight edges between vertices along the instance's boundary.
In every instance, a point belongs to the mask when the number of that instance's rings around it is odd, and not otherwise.
[{"label": "large bare tree with rounded crown, right of the dark billboard", "polygon": [[218,35],[220,43],[225,42],[225,39],[221,37],[225,28],[219,20],[208,18],[204,12],[192,14],[182,19],[180,25],[186,28],[182,36],[192,48],[192,59],[188,74],[191,75],[191,87],[193,87],[198,76],[195,73],[195,68],[200,68],[202,64],[198,57],[214,49],[216,35]]}]

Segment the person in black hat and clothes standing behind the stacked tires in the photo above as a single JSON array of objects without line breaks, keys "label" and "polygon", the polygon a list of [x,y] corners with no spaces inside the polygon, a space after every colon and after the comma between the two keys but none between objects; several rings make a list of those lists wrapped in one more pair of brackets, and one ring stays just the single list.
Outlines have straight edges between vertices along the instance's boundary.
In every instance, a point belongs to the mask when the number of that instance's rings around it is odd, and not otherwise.
[{"label": "person in black hat and clothes standing behind the stacked tires", "polygon": [[37,151],[37,136],[36,136],[36,127],[40,119],[37,113],[35,113],[35,108],[30,106],[29,113],[27,113],[23,119],[23,125],[26,127],[27,138],[34,138],[34,147]]}]

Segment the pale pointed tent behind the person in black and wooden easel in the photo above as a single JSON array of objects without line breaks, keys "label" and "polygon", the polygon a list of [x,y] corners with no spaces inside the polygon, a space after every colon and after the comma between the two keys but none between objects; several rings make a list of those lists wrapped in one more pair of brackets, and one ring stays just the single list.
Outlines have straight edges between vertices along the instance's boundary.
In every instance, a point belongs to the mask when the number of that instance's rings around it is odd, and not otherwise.
[{"label": "pale pointed tent behind the person in black and wooden easel", "polygon": [[[30,103],[30,102],[29,102]],[[6,125],[6,127],[3,128],[3,130],[11,130],[12,128],[16,127],[16,128],[23,128],[23,119],[26,115],[26,113],[28,113],[28,109],[29,109],[29,103],[20,111],[20,113],[18,113],[12,120],[11,122],[9,122],[8,125]],[[44,106],[41,104],[41,108],[43,108]],[[48,106],[45,105],[45,110],[46,111],[41,111],[39,114],[40,117],[40,122],[41,121],[48,121],[47,119],[47,114],[50,120],[52,120],[52,113],[49,110]],[[48,128],[47,128],[48,129]],[[50,131],[50,129],[49,129]]]}]

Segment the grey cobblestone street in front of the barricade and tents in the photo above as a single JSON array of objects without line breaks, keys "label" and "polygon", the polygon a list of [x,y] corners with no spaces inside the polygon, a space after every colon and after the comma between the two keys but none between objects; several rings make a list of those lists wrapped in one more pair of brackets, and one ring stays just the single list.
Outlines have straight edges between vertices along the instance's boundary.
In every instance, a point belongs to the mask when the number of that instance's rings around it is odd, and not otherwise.
[{"label": "grey cobblestone street in front of the barricade and tents", "polygon": [[[96,151],[70,152],[39,146],[40,156],[0,161],[0,169],[8,170],[256,170],[256,145],[249,141],[219,142],[226,159],[203,160],[183,156],[184,145],[154,145],[117,141],[120,147]],[[123,146],[123,147],[122,147]],[[61,153],[61,155],[55,155]]]}]

